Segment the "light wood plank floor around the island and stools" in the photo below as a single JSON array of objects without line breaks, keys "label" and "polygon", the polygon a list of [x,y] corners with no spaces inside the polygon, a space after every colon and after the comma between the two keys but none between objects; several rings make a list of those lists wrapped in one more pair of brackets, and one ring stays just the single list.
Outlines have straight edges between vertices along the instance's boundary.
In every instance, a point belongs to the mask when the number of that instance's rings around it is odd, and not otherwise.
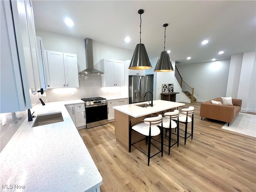
[{"label": "light wood plank floor around the island and stools", "polygon": [[224,122],[201,120],[200,102],[186,106],[195,107],[193,140],[188,138],[185,146],[180,138],[170,155],[164,147],[164,156],[151,158],[150,166],[141,152],[129,153],[116,142],[114,122],[80,130],[103,178],[100,190],[255,192],[256,138],[222,130]]}]

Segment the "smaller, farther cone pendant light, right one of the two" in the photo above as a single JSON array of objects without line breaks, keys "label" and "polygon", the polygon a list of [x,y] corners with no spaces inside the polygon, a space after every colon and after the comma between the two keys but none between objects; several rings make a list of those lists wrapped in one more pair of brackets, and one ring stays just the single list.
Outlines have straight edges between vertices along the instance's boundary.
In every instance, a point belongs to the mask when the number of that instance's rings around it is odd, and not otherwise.
[{"label": "smaller, farther cone pendant light, right one of the two", "polygon": [[156,62],[156,67],[154,72],[169,72],[174,71],[172,67],[172,63],[170,60],[170,56],[168,52],[165,50],[165,36],[166,36],[166,27],[168,24],[164,24],[164,51],[160,53],[160,56]]}]

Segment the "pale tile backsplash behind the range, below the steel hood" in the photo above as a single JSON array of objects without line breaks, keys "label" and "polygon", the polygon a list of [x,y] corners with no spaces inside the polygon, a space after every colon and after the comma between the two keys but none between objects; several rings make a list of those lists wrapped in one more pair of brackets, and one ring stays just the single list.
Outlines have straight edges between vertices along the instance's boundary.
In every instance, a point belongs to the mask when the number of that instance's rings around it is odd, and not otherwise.
[{"label": "pale tile backsplash behind the range, below the steel hood", "polygon": [[79,88],[56,88],[45,91],[44,102],[76,100],[90,97],[128,96],[128,87],[102,87],[100,75],[79,74]]}]

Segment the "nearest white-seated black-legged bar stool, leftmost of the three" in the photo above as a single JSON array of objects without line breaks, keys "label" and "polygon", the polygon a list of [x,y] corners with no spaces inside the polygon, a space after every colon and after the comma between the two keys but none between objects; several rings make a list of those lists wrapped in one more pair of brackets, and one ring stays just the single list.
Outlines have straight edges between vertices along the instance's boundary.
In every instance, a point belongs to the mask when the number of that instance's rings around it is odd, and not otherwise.
[{"label": "nearest white-seated black-legged bar stool, leftmost of the three", "polygon": [[[131,146],[134,146],[136,149],[138,149],[140,152],[142,152],[144,155],[146,155],[148,157],[148,166],[149,166],[149,161],[150,158],[156,156],[157,154],[159,154],[161,152],[162,156],[163,156],[163,134],[162,134],[162,115],[158,115],[156,117],[148,117],[145,118],[142,123],[136,124],[134,126],[131,127],[130,124],[130,136],[129,136],[129,152],[131,152]],[[161,130],[158,128],[158,126],[160,126]],[[140,150],[140,148],[138,148],[137,146],[135,146],[136,143],[141,142],[137,141],[135,143],[132,143],[132,131],[136,131],[144,136],[146,136],[144,139],[146,139],[146,144],[148,144],[148,154],[146,154],[145,152],[143,152],[142,150]],[[157,146],[155,146],[152,142],[151,142],[151,138],[153,136],[157,136],[161,133],[161,149],[159,149]],[[151,144],[156,147],[159,151],[156,152],[155,154],[153,154],[152,156],[150,156],[150,148],[151,148]]]}]

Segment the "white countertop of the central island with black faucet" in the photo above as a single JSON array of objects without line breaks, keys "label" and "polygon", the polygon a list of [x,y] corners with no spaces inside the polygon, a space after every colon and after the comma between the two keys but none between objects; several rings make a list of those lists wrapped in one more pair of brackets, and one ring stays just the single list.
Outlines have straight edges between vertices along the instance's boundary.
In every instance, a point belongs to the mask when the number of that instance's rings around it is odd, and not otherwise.
[{"label": "white countertop of the central island with black faucet", "polygon": [[[172,102],[172,101],[165,101],[165,100],[154,100],[153,107],[139,107],[137,105],[140,104],[149,104],[148,101],[128,104],[128,105],[121,105],[121,106],[114,106],[115,110],[128,114],[134,118],[141,117],[144,115],[149,115],[152,113],[164,111],[171,108],[176,108],[185,105],[184,103]],[[150,101],[151,103],[151,101]]]}]

